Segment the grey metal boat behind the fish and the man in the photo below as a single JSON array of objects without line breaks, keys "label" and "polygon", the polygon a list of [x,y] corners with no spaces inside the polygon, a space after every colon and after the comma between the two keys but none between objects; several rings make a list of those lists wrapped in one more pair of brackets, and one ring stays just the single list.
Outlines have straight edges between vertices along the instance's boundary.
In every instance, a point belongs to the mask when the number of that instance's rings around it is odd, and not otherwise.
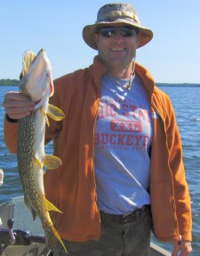
[{"label": "grey metal boat behind the fish and the man", "polygon": [[[23,202],[23,196],[0,205],[0,256],[47,256],[52,255],[45,247],[44,231],[37,218]],[[155,243],[151,243],[151,256],[170,256]]]}]

